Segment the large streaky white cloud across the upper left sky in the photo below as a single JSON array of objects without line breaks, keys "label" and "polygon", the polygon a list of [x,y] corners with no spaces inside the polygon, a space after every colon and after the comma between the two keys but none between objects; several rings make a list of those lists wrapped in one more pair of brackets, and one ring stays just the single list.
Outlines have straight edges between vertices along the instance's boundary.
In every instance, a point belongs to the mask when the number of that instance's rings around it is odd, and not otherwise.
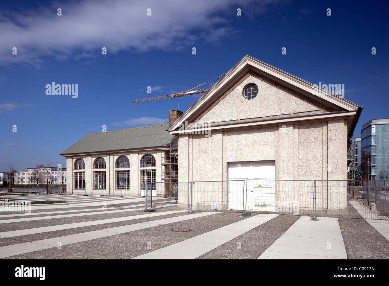
[{"label": "large streaky white cloud across the upper left sky", "polygon": [[[26,11],[0,11],[0,63],[40,65],[56,60],[102,56],[122,50],[175,50],[217,42],[237,30],[231,17],[240,7],[247,15],[261,14],[279,0],[84,0]],[[57,9],[62,16],[57,16]],[[152,16],[147,16],[147,9]],[[243,17],[243,16],[241,16]],[[12,47],[18,50],[12,54]]]}]

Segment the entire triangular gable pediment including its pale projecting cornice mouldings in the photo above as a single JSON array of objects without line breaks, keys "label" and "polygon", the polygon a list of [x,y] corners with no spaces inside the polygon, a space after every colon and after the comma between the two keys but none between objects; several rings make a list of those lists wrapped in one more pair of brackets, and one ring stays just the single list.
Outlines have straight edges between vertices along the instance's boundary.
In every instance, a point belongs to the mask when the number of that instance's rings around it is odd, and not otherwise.
[{"label": "entire triangular gable pediment including its pale projecting cornice mouldings", "polygon": [[[258,86],[258,95],[246,99],[243,91],[250,84]],[[246,55],[184,112],[168,131],[177,130],[182,123],[233,124],[331,112],[360,113],[359,105],[328,91],[317,92],[313,86],[310,82]]]}]

